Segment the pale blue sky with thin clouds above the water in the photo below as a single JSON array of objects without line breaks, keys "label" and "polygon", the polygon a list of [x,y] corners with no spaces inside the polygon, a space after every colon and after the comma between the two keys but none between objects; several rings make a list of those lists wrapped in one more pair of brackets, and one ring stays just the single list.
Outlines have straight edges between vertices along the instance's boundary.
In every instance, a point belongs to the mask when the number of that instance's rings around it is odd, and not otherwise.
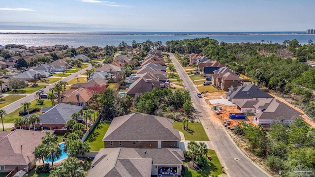
[{"label": "pale blue sky with thin clouds above the water", "polygon": [[0,0],[0,29],[306,31],[314,0]]}]

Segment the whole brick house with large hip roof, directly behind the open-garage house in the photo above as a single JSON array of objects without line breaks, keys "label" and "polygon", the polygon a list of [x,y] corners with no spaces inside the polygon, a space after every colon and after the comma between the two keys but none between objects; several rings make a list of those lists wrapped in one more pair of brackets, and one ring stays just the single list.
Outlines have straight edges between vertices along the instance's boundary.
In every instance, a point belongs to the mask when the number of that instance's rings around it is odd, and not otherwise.
[{"label": "whole brick house with large hip roof, directly behind the open-garage house", "polygon": [[178,148],[181,136],[170,118],[133,113],[114,118],[103,141],[105,148]]}]

